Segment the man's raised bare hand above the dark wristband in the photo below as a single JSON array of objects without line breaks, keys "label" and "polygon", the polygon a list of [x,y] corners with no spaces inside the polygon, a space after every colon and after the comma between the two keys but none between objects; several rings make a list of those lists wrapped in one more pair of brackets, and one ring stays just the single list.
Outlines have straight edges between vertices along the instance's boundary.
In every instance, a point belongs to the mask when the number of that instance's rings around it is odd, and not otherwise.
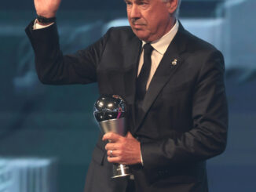
[{"label": "man's raised bare hand above the dark wristband", "polygon": [[56,16],[60,2],[61,0],[34,0],[36,13],[46,18]]}]

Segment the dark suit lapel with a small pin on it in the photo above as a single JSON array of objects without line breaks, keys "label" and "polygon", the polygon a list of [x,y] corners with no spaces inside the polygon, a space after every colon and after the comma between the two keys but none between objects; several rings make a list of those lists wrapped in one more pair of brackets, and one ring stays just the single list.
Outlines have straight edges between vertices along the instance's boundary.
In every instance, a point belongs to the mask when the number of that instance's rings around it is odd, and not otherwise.
[{"label": "dark suit lapel with a small pin on it", "polygon": [[184,31],[185,30],[180,23],[179,30],[166,50],[166,53],[164,53],[163,59],[159,63],[159,67],[155,71],[152,82],[148,87],[148,91],[142,104],[143,114],[141,115],[141,119],[137,121],[135,132],[140,127],[144,116],[147,114],[149,108],[152,106],[152,103],[159,95],[159,92],[163,89],[164,85],[169,82],[177,68],[181,66],[183,61],[181,53],[185,51],[185,41],[182,39],[182,34]]}]

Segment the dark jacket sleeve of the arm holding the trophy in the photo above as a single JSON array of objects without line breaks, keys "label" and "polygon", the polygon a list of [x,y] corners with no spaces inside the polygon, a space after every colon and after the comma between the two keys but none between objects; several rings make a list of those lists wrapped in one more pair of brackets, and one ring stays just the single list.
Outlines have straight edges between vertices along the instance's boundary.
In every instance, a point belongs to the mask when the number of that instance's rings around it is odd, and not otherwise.
[{"label": "dark jacket sleeve of the arm holding the trophy", "polygon": [[225,150],[228,107],[224,71],[222,54],[218,51],[209,53],[193,91],[193,127],[174,138],[141,143],[145,169],[175,168],[205,161]]}]

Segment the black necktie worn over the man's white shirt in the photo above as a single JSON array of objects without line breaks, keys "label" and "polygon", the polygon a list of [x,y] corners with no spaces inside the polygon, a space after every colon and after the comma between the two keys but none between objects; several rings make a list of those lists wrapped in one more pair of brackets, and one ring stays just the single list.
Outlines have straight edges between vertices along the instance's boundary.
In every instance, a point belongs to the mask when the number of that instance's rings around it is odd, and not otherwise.
[{"label": "black necktie worn over the man's white shirt", "polygon": [[146,87],[148,82],[148,77],[151,70],[151,54],[153,47],[149,43],[143,46],[144,49],[144,63],[141,68],[141,72],[137,77],[136,82],[136,91],[137,91],[137,100],[143,100],[146,94]]}]

